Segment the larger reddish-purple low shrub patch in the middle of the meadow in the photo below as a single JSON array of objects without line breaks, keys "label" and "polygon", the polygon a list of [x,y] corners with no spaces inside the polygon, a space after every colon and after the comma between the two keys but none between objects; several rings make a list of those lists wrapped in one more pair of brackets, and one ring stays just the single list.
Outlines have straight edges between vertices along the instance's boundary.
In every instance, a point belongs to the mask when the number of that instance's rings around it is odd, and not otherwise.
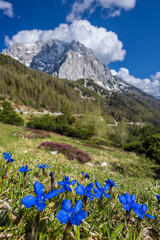
[{"label": "larger reddish-purple low shrub patch in the middle of the meadow", "polygon": [[38,148],[41,147],[50,151],[58,151],[59,153],[64,154],[69,160],[76,159],[81,163],[86,163],[91,160],[88,153],[65,143],[42,142]]}]

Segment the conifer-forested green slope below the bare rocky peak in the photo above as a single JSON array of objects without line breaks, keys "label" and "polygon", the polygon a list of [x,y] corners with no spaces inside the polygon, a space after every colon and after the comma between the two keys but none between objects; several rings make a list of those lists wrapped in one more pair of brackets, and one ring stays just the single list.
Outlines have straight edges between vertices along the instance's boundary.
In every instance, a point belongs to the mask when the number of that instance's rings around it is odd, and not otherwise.
[{"label": "conifer-forested green slope below the bare rocky peak", "polygon": [[[116,81],[120,82],[122,91],[123,81]],[[68,105],[73,113],[84,113],[86,109],[94,112],[100,107],[103,115],[110,114],[116,120],[125,117],[129,121],[160,124],[160,100],[130,85],[127,89],[126,94],[120,94],[90,79],[58,79],[0,54],[0,95],[8,96],[17,106],[24,104],[60,112]]]}]

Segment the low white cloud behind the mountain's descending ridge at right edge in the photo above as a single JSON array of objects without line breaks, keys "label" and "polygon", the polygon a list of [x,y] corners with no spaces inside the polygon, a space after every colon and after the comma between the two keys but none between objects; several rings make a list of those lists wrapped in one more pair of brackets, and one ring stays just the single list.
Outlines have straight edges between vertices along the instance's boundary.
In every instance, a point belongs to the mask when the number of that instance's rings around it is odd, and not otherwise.
[{"label": "low white cloud behind the mountain's descending ridge at right edge", "polygon": [[117,77],[122,78],[129,84],[140,88],[142,91],[153,95],[157,98],[160,98],[160,72],[157,72],[155,75],[151,76],[150,80],[149,78],[136,78],[132,75],[130,75],[127,68],[120,68],[118,72],[115,70],[111,70],[112,75],[115,75]]}]

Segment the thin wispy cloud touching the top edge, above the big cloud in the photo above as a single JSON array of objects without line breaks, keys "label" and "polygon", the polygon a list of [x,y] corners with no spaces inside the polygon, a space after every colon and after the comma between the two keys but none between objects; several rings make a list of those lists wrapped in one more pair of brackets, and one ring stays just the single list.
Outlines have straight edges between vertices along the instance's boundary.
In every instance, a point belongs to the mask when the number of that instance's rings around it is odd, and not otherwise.
[{"label": "thin wispy cloud touching the top edge, above the big cloud", "polygon": [[108,17],[120,16],[120,10],[130,10],[136,5],[136,0],[76,0],[71,12],[66,20],[72,22],[76,19],[81,19],[83,13],[89,11],[93,13],[97,7],[109,10]]}]

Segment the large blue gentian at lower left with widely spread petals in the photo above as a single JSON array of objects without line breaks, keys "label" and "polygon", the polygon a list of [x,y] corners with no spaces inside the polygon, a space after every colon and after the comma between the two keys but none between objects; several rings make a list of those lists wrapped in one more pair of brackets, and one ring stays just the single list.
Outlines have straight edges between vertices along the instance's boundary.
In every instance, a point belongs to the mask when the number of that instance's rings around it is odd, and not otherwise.
[{"label": "large blue gentian at lower left with widely spread petals", "polygon": [[46,200],[57,196],[59,193],[59,190],[55,189],[45,195],[43,190],[44,186],[40,182],[36,181],[34,184],[34,191],[37,196],[33,197],[32,195],[28,195],[21,199],[21,203],[26,208],[31,208],[36,205],[38,211],[42,211],[46,207]]}]

